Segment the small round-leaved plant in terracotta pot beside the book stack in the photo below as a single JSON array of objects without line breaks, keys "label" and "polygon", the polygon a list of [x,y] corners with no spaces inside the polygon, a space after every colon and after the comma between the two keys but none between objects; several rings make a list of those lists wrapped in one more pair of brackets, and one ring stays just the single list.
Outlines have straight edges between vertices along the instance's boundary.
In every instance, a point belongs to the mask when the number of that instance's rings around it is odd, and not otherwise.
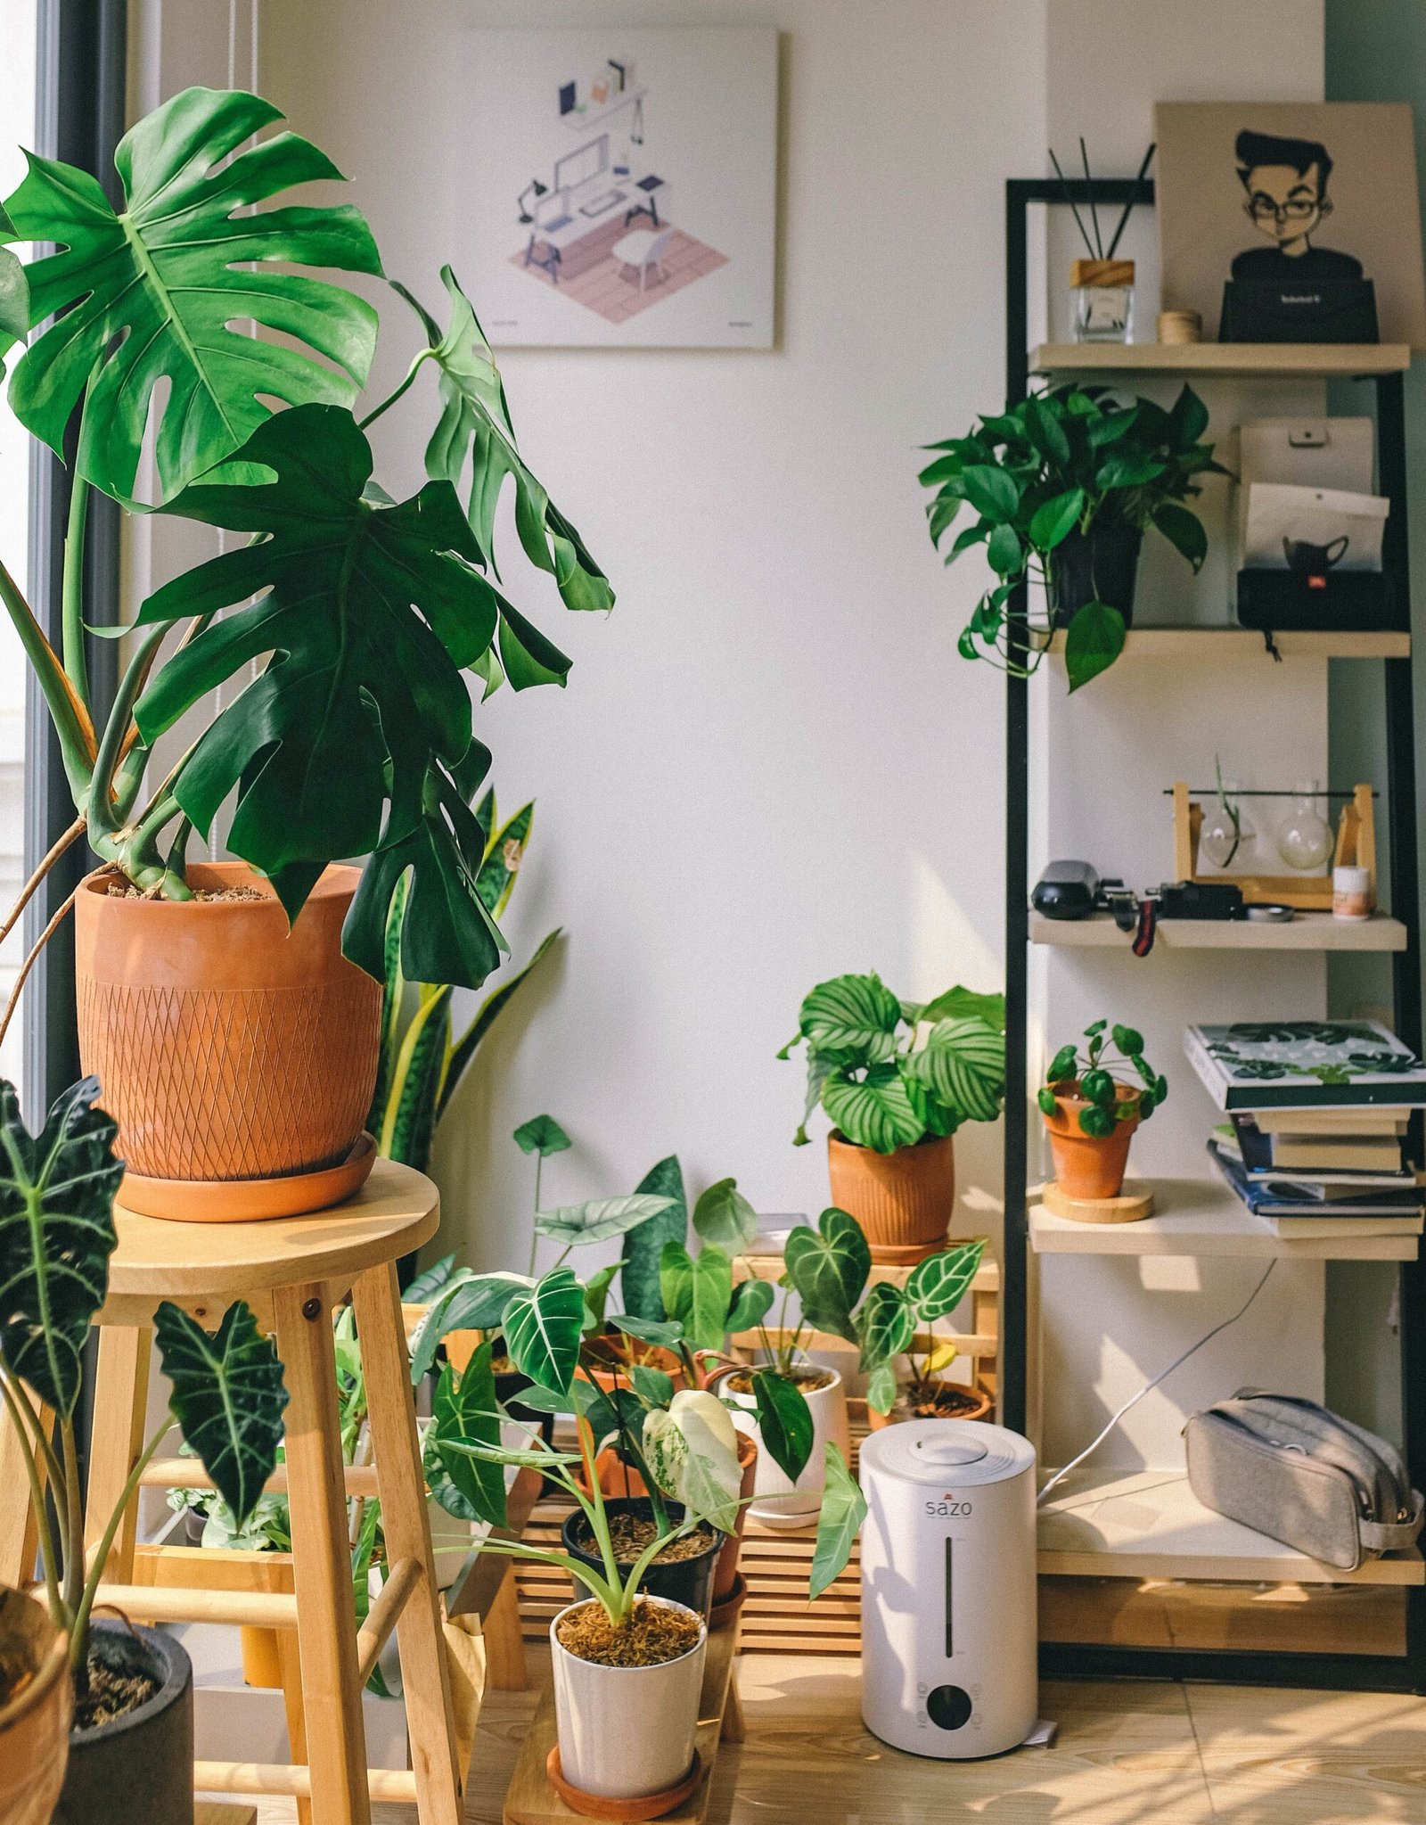
[{"label": "small round-leaved plant in terracotta pot beside the book stack", "polygon": [[1083,1051],[1061,1046],[1050,1058],[1038,1102],[1059,1190],[1092,1203],[1123,1190],[1129,1142],[1169,1095],[1169,1082],[1143,1057],[1134,1027],[1094,1020],[1083,1038]]}]

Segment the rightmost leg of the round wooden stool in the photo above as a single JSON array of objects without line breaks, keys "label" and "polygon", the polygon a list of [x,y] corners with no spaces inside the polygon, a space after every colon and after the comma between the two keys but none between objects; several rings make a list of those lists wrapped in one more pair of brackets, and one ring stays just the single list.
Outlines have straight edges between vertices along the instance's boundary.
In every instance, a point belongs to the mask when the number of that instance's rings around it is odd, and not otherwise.
[{"label": "rightmost leg of the round wooden stool", "polygon": [[381,1495],[381,1528],[387,1535],[387,1562],[414,1559],[425,1566],[425,1575],[396,1624],[418,1809],[421,1825],[460,1825],[460,1787],[465,1770],[456,1767],[450,1675],[441,1635],[439,1591],[432,1575],[430,1517],[416,1438],[416,1405],[410,1392],[396,1265],[367,1268],[352,1287],[352,1305],[367,1376],[367,1413],[372,1427],[376,1486]]}]

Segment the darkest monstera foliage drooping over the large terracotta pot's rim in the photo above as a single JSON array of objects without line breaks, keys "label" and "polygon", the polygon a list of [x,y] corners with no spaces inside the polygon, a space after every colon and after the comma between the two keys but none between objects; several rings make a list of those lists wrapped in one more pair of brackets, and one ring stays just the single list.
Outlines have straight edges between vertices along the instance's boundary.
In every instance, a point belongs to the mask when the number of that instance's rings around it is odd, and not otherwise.
[{"label": "darkest monstera foliage drooping over the large terracotta pot's rim", "polygon": [[155,591],[139,622],[266,593],[168,659],[135,717],[151,743],[272,653],[184,763],[184,812],[206,830],[237,787],[228,845],[274,878],[294,916],[328,861],[381,845],[348,956],[385,975],[385,914],[410,867],[407,978],[476,987],[501,940],[476,887],[485,834],[450,768],[474,746],[461,666],[491,646],[496,591],[470,562],[476,544],[447,482],[398,506],[367,489],[370,474],[348,411],[297,405],[164,509],[266,537]]}]

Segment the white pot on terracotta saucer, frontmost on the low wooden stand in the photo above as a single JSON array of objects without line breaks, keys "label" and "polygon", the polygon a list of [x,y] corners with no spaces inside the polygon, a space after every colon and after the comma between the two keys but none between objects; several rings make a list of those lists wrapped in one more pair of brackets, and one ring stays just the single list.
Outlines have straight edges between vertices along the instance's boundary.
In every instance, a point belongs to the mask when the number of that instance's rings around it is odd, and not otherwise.
[{"label": "white pot on terracotta saucer, frontmost on the low wooden stand", "polygon": [[598,1666],[560,1646],[560,1621],[580,1604],[549,1624],[560,1768],[573,1787],[602,1799],[667,1792],[693,1765],[708,1626],[680,1602],[642,1601],[691,1615],[698,1644],[662,1666]]}]

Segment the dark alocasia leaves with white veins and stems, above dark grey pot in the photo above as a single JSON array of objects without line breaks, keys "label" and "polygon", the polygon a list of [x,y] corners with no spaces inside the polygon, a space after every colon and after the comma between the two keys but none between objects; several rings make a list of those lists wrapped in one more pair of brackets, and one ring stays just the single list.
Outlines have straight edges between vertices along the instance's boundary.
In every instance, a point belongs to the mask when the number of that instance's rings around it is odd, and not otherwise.
[{"label": "dark alocasia leaves with white veins and stems, above dark grey pot", "polygon": [[164,1301],[155,1334],[173,1385],[170,1414],[140,1451],[113,1515],[89,1517],[98,1544],[86,1564],[75,1409],[84,1345],[109,1285],[113,1199],[124,1175],[113,1153],[117,1124],[95,1106],[97,1091],[93,1079],[66,1090],[31,1135],[15,1086],[0,1082],[0,1398],[29,1476],[49,1613],[69,1637],[80,1692],[104,1562],[170,1427],[182,1425],[241,1528],[272,1476],[286,1407],[277,1350],[243,1301],[228,1307],[212,1336]]}]

